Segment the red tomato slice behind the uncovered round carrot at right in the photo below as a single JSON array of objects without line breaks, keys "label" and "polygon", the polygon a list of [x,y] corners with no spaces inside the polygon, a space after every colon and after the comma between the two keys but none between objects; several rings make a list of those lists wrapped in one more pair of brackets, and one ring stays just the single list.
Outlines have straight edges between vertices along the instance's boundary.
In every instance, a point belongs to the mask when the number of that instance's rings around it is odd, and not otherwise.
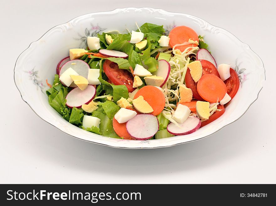
[{"label": "red tomato slice behind the uncovered round carrot at right", "polygon": [[[201,65],[202,65],[202,76],[205,74],[213,74],[217,77],[220,77],[218,70],[210,61],[203,60],[203,59],[200,59],[197,61],[200,61]],[[199,101],[205,101],[202,97],[200,97],[199,93],[197,92],[197,89],[196,89],[197,83],[194,82],[189,68],[185,75],[185,83],[186,83],[186,87],[188,87],[192,90],[193,98],[195,98]]]}]

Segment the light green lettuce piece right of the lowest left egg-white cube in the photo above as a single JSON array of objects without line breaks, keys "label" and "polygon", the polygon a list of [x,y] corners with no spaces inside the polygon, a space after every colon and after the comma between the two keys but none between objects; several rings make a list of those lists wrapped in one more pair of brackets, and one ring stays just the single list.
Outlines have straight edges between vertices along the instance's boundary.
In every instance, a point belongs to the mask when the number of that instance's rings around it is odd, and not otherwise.
[{"label": "light green lettuce piece right of the lowest left egg-white cube", "polygon": [[92,113],[92,116],[98,117],[101,120],[100,132],[102,135],[107,137],[120,138],[113,129],[112,120],[110,120],[106,114],[96,110]]}]

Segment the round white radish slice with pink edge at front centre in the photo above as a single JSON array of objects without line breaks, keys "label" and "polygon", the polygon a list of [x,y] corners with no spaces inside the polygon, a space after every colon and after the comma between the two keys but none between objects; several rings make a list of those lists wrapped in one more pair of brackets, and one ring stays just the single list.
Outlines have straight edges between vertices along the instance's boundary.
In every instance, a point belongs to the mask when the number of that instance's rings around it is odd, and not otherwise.
[{"label": "round white radish slice with pink edge at front centre", "polygon": [[135,140],[148,140],[157,133],[159,123],[152,114],[137,114],[126,123],[126,130]]}]

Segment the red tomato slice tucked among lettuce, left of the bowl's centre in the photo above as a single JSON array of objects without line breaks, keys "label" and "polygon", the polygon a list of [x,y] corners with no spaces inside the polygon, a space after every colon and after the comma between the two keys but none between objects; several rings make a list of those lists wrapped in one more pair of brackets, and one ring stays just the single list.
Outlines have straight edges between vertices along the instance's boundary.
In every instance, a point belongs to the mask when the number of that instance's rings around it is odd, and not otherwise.
[{"label": "red tomato slice tucked among lettuce, left of the bowl's centre", "polygon": [[129,92],[135,90],[132,87],[133,76],[129,71],[119,69],[118,64],[110,60],[105,60],[103,68],[104,73],[114,85],[125,85]]}]

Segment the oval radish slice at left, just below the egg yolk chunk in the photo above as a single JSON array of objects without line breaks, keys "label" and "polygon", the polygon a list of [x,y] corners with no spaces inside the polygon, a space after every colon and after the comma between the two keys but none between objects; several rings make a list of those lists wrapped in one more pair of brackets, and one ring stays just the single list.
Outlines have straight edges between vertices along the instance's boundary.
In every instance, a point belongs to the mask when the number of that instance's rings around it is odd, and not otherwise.
[{"label": "oval radish slice at left, just below the egg yolk chunk", "polygon": [[79,87],[72,89],[66,96],[66,105],[69,108],[81,108],[82,104],[88,104],[96,95],[96,89],[93,85],[88,85],[85,90]]}]

